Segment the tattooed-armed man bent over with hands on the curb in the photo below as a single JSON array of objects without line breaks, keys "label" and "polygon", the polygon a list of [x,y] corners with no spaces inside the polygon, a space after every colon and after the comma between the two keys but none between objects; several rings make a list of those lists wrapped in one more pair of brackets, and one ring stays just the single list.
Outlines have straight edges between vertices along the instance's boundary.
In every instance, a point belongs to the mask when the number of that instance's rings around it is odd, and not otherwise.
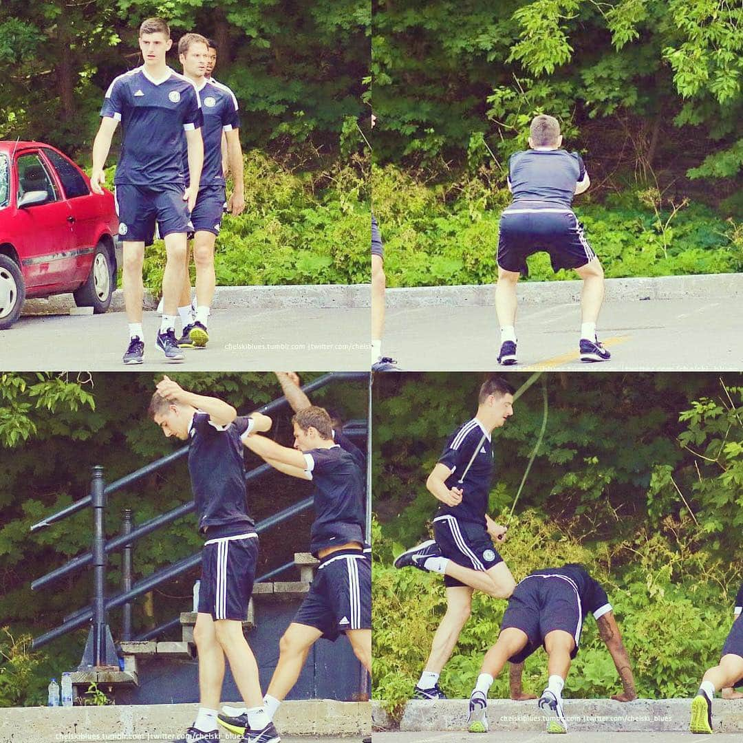
[{"label": "tattooed-armed man bent over with hands on the curb", "polygon": [[614,619],[609,598],[583,565],[537,570],[516,585],[503,614],[501,632],[487,651],[470,695],[470,733],[487,733],[487,692],[503,666],[523,663],[544,646],[548,655],[548,685],[539,698],[539,710],[547,718],[548,733],[567,733],[562,712],[562,688],[570,662],[578,652],[583,620],[588,612],[597,621],[601,639],[611,653],[624,691],[616,701],[637,698],[629,656]]}]

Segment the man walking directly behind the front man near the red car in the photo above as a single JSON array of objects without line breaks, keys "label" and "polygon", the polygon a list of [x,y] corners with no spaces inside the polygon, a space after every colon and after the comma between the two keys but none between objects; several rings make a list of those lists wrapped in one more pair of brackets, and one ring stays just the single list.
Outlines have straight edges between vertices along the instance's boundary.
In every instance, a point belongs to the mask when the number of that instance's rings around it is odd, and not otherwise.
[{"label": "man walking directly behind the front man near the red car", "polygon": [[[204,114],[204,126],[201,128],[204,167],[201,169],[198,198],[191,212],[193,257],[196,265],[196,310],[192,315],[187,251],[184,283],[178,303],[178,314],[183,323],[183,332],[178,340],[181,348],[204,348],[207,345],[207,325],[216,285],[214,244],[221,228],[224,208],[227,207],[236,216],[245,207],[237,99],[227,85],[205,77],[208,53],[207,39],[198,33],[186,33],[178,42],[178,58],[183,65],[184,77],[198,90]],[[223,136],[227,137],[227,152],[235,181],[229,202],[225,201],[222,172]],[[185,167],[188,158],[186,142],[183,144],[183,158]]]}]

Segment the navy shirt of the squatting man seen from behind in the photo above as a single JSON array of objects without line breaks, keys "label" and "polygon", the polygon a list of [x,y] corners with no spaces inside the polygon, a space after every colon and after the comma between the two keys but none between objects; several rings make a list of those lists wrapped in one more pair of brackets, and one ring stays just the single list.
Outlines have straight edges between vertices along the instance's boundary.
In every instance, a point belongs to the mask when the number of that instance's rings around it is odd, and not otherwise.
[{"label": "navy shirt of the squatting man seen from behind", "polygon": [[508,160],[508,181],[516,201],[550,201],[570,207],[575,186],[583,181],[585,165],[577,152],[527,149]]}]

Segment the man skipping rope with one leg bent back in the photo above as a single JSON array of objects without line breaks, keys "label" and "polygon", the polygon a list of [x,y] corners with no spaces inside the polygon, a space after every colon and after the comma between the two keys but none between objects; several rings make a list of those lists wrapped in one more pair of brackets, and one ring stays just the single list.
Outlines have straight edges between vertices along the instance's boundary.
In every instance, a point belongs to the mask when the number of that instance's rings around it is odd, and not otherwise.
[{"label": "man skipping rope with one leg bent back", "polygon": [[435,540],[423,542],[395,559],[396,568],[412,566],[444,574],[447,613],[433,637],[431,653],[415,686],[418,699],[445,699],[438,687],[441,670],[470,617],[473,589],[506,599],[516,582],[493,548],[506,528],[487,515],[493,479],[490,435],[513,415],[513,388],[499,377],[480,388],[477,415],[448,439],[426,487],[441,502],[433,519]]}]

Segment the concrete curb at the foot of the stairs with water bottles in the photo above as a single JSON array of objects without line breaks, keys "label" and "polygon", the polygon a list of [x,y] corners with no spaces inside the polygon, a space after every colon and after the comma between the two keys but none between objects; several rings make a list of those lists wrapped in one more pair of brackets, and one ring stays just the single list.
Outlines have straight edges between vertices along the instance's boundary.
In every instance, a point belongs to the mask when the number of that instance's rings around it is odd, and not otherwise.
[{"label": "concrete curb at the foot of the stairs with water bottles", "polygon": [[[223,704],[241,706],[239,701]],[[3,743],[151,740],[183,738],[198,704],[139,704],[111,707],[10,707],[0,709]],[[287,736],[359,736],[371,734],[369,702],[308,699],[286,701],[276,727]],[[222,739],[227,739],[226,731]],[[235,740],[237,740],[235,738]]]}]

